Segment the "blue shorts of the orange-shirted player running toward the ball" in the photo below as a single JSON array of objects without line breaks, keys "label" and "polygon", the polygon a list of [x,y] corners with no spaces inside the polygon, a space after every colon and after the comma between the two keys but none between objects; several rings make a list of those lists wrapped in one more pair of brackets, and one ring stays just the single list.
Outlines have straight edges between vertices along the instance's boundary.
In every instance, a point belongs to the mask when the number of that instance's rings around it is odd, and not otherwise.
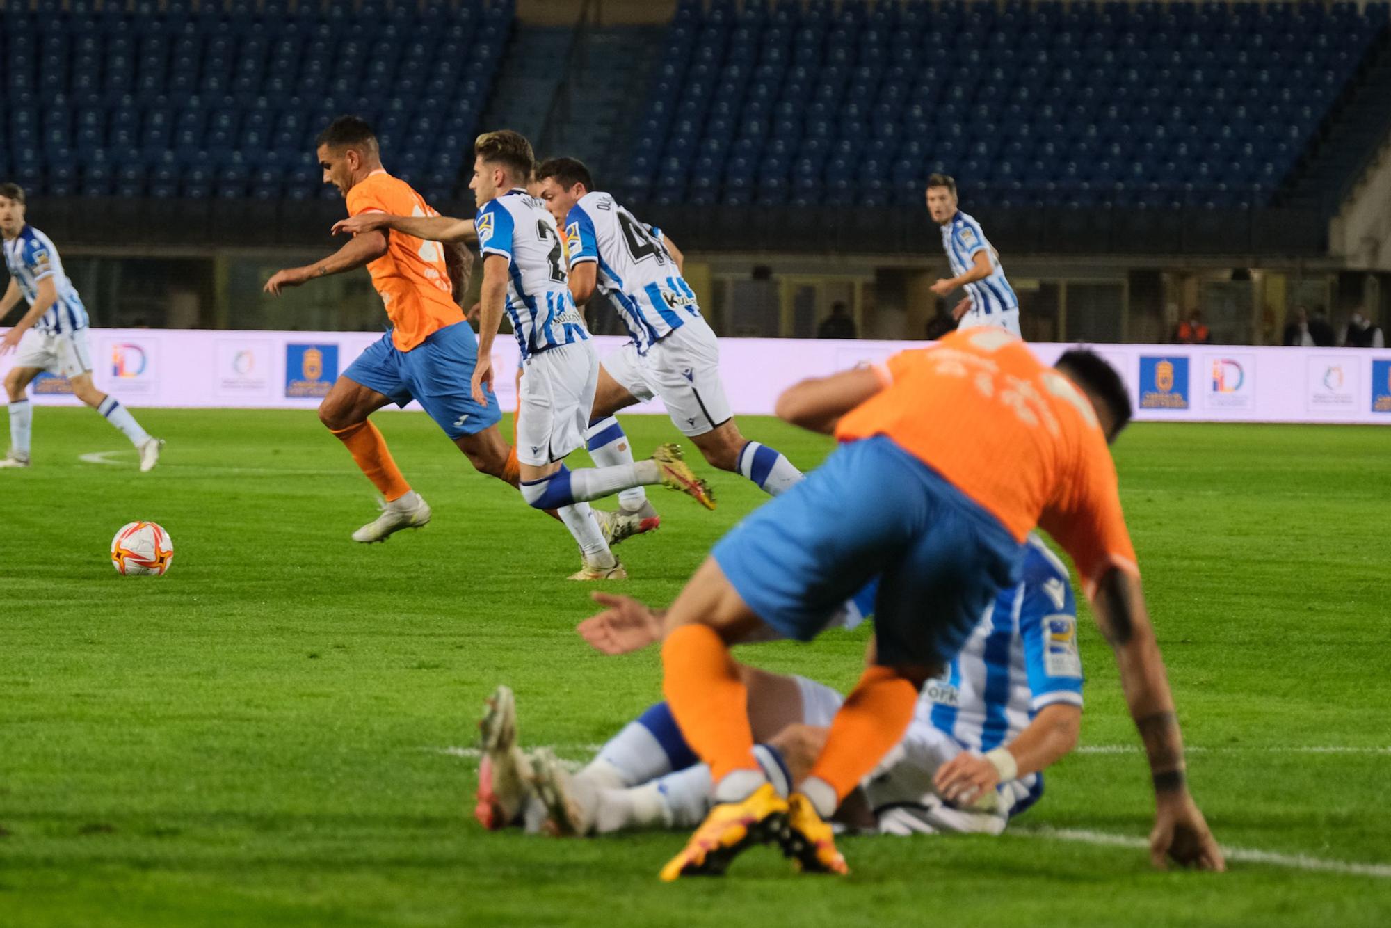
[{"label": "blue shorts of the orange-shirted player running toward the ball", "polygon": [[491,390],[485,391],[485,406],[473,399],[473,366],[477,359],[479,342],[469,323],[447,326],[410,351],[399,351],[388,331],[348,365],[344,377],[376,390],[398,406],[419,401],[444,434],[462,438],[502,419],[498,398]]}]

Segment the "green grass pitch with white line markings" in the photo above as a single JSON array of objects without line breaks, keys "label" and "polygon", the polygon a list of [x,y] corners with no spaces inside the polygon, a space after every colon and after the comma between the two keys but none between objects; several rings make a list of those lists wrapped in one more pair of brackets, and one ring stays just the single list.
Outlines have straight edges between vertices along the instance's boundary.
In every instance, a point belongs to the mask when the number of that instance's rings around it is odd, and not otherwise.
[{"label": "green grass pitch with white line markings", "polygon": [[[1006,836],[849,838],[847,879],[759,849],[668,886],[683,835],[485,833],[476,761],[445,750],[497,683],[526,743],[574,760],[658,698],[654,653],[574,636],[558,525],[423,415],[378,422],[434,523],[381,545],[348,540],[370,487],[313,413],[139,417],[168,438],[150,474],[99,416],[49,408],[35,466],[0,472],[0,925],[1391,924],[1391,430],[1139,424],[1116,448],[1193,793],[1224,846],[1276,863],[1155,872],[1095,843],[1142,838],[1152,799],[1084,622],[1082,750]],[[637,448],[675,434],[626,426]],[[804,467],[830,447],[741,426]],[[102,451],[120,466],[79,461]],[[761,501],[698,466],[719,509],[658,488],[622,590],[668,601]],[[172,534],[168,576],[111,570],[134,519]],[[844,687],[862,647],[741,657]]]}]

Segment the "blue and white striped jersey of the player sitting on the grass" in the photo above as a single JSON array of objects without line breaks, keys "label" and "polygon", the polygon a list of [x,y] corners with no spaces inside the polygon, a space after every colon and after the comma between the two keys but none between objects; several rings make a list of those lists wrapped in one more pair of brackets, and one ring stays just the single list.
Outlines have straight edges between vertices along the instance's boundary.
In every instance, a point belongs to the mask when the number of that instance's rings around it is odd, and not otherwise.
[{"label": "blue and white striped jersey of the player sitting on the grass", "polygon": [[947,671],[924,687],[918,722],[985,753],[1054,703],[1082,705],[1077,600],[1067,568],[1029,536],[1022,582],[1000,593]]}]

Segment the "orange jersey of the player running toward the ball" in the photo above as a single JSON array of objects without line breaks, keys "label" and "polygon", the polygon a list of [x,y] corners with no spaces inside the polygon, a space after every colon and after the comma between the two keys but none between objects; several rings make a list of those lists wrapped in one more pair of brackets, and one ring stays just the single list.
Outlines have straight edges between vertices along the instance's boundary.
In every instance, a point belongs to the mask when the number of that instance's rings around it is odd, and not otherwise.
[{"label": "orange jersey of the player running toward the ball", "polygon": [[[367,175],[348,191],[348,214],[438,216],[405,181],[385,171]],[[453,302],[453,285],[444,262],[444,246],[392,231],[387,253],[367,264],[371,285],[381,294],[391,320],[391,342],[410,351],[445,326],[463,321]]]}]

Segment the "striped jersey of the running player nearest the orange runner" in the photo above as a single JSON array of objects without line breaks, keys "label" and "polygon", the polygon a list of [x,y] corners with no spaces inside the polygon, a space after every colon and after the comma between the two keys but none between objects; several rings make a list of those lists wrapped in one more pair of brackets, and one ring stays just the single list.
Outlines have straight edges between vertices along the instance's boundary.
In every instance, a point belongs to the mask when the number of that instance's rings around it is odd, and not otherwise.
[{"label": "striped jersey of the running player nearest the orange runner", "polygon": [[522,359],[586,341],[561,248],[561,232],[545,203],[517,188],[487,202],[473,220],[484,257],[508,259],[506,313]]}]

